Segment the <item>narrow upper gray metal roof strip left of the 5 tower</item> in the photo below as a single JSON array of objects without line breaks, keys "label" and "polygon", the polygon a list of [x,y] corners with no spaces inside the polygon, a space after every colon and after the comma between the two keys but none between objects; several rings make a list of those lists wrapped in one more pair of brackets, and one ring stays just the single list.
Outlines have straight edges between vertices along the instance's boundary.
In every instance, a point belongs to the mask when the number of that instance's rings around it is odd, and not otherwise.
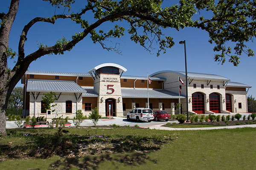
[{"label": "narrow upper gray metal roof strip left of the 5 tower", "polygon": [[88,73],[70,73],[70,72],[58,72],[58,71],[26,71],[26,74],[91,77],[90,74]]}]

